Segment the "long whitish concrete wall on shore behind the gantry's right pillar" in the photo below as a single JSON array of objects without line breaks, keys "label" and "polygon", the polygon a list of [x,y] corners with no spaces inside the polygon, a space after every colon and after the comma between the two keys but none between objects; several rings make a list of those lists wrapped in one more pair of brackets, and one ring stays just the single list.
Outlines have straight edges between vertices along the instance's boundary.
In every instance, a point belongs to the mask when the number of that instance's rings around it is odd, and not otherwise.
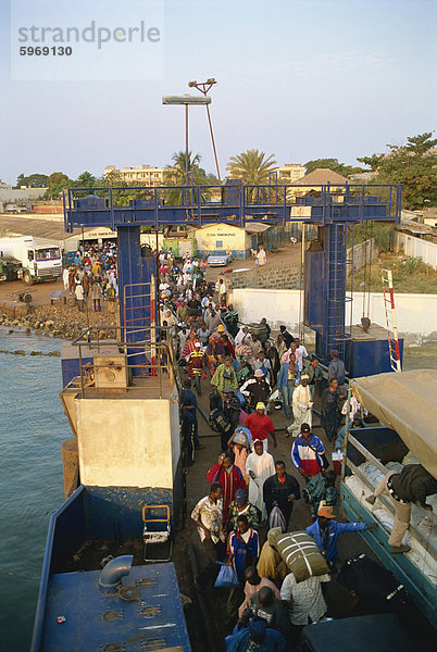
[{"label": "long whitish concrete wall on shore behind the gantry's right pillar", "polygon": [[[299,290],[267,290],[238,288],[233,292],[233,304],[245,323],[260,322],[266,317],[272,328],[280,324],[292,333],[299,329]],[[405,343],[413,343],[437,331],[437,294],[395,294],[399,335]],[[352,323],[362,316],[363,293],[353,293]],[[365,300],[367,306],[367,300]],[[346,324],[350,323],[350,303],[346,304]],[[371,292],[370,316],[373,323],[386,326],[383,293]]]}]

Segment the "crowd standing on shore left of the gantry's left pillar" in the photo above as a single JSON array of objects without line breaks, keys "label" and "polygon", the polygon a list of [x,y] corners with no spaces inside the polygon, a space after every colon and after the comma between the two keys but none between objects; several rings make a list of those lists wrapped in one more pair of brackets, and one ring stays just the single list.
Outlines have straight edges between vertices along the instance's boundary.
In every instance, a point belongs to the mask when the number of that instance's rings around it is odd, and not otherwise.
[{"label": "crowd standing on shore left of the gantry's left pillar", "polygon": [[78,309],[84,312],[88,300],[91,309],[101,312],[102,301],[108,302],[110,313],[115,312],[118,297],[117,246],[108,242],[103,246],[83,242],[70,265],[62,273],[64,291],[76,297]]}]

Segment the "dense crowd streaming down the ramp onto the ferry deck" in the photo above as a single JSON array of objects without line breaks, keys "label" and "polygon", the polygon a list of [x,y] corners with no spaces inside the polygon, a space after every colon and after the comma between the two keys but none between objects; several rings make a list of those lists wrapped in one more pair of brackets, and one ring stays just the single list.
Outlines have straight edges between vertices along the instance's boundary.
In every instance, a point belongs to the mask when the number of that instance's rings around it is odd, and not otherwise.
[{"label": "dense crowd streaming down the ramp onto the ferry deck", "polygon": [[[329,576],[296,582],[270,534],[296,529],[294,506],[303,498],[309,503],[307,532],[335,573],[338,536],[369,527],[335,518],[337,476],[312,427],[317,396],[326,438],[341,446],[340,426],[348,409],[345,365],[338,351],[332,351],[325,388],[317,359],[298,337],[280,326],[273,338],[266,318],[257,327],[241,324],[228,297],[225,275],[208,283],[202,261],[186,256],[179,266],[171,254],[160,252],[160,323],[164,336],[173,338],[184,378],[187,466],[203,448],[197,416],[203,392],[210,427],[220,435],[220,454],[205,478],[209,491],[191,513],[208,559],[197,582],[201,589],[214,585],[217,561],[235,573],[236,586],[227,589],[228,650],[292,650],[303,626],[326,614],[322,587]],[[361,405],[353,408],[351,416],[361,419]],[[272,454],[278,410],[291,422],[284,436],[291,439],[294,475]]]}]

